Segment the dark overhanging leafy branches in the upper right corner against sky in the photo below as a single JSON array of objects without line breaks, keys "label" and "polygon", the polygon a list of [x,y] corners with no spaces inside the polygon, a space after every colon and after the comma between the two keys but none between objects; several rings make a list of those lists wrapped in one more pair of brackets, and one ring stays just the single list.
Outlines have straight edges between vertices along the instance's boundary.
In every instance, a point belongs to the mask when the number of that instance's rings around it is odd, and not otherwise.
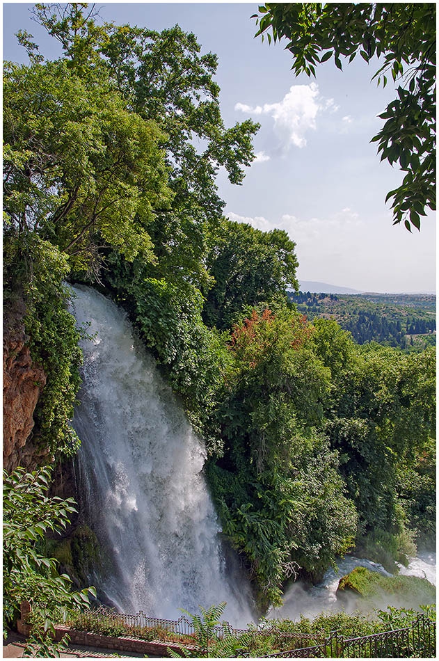
[{"label": "dark overhanging leafy branches in the upper right corner against sky", "polygon": [[296,75],[315,76],[332,56],[339,69],[342,57],[383,56],[373,78],[385,86],[391,74],[399,86],[372,142],[405,173],[386,198],[394,224],[419,230],[426,207],[436,209],[436,3],[267,3],[254,17],[257,35],[288,40]]}]

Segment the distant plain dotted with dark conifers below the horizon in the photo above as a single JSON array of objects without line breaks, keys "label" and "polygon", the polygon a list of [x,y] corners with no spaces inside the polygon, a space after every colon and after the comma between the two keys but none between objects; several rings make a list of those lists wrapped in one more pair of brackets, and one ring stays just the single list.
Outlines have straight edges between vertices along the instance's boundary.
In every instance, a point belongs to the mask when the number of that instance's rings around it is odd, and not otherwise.
[{"label": "distant plain dotted with dark conifers below the horizon", "polygon": [[379,342],[407,351],[436,346],[436,296],[288,292],[310,321],[335,319],[358,344]]}]

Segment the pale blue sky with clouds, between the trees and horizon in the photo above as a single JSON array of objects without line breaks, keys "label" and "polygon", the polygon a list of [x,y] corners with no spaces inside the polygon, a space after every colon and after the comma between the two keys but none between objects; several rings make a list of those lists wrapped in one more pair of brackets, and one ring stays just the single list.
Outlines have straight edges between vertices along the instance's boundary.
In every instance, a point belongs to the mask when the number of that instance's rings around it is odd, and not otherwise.
[{"label": "pale blue sky with clouds, between the trees and horizon", "polygon": [[[3,59],[26,62],[15,33],[33,34],[47,58],[58,44],[31,21],[30,3],[3,3]],[[261,230],[280,228],[296,243],[299,281],[363,292],[436,292],[435,214],[421,231],[392,225],[388,191],[403,178],[380,162],[370,139],[394,88],[371,82],[378,68],[356,58],[338,70],[333,60],[317,77],[296,77],[281,43],[255,38],[256,2],[97,3],[116,24],[162,30],[179,24],[198,38],[202,53],[218,55],[216,81],[227,127],[251,118],[261,128],[257,158],[240,186],[218,174],[225,215]]]}]

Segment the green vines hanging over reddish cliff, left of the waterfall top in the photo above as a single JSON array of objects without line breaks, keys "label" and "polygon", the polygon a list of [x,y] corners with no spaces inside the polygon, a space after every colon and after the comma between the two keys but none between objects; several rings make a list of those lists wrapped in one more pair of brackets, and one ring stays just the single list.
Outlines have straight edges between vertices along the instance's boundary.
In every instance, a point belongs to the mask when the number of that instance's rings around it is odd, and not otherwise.
[{"label": "green vines hanging over reddish cliff, left of the waterfall top", "polygon": [[35,411],[33,443],[50,454],[72,456],[79,438],[70,427],[79,388],[80,337],[67,312],[69,269],[65,255],[35,232],[11,235],[3,244],[3,297],[6,309],[24,301],[24,329],[33,361],[44,367],[47,383]]}]

